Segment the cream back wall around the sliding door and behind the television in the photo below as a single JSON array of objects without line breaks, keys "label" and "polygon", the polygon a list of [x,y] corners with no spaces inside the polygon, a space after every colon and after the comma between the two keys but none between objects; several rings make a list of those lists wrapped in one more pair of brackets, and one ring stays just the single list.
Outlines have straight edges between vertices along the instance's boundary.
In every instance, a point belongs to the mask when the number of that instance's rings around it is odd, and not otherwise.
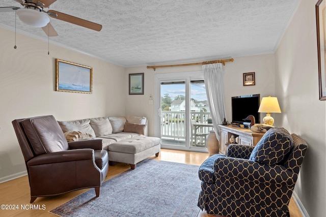
[{"label": "cream back wall around the sliding door and behind the television", "polygon": [[[156,71],[144,67],[130,67],[126,69],[125,79],[129,73],[144,73],[144,95],[128,95],[126,98],[126,114],[144,115],[149,119],[149,135],[154,135],[154,105],[149,105],[149,96],[154,96],[154,75],[176,72],[198,72],[201,66],[158,68]],[[231,97],[260,94],[260,97],[275,95],[275,59],[274,54],[235,57],[233,62],[226,63],[225,72],[225,104],[227,120],[231,121]],[[256,85],[243,86],[243,73],[255,72]],[[126,87],[128,91],[128,87]],[[244,105],[245,106],[245,105]],[[275,114],[277,116],[279,114]],[[262,117],[265,116],[262,114]],[[262,119],[262,118],[261,118]],[[276,121],[275,125],[279,123]]]}]

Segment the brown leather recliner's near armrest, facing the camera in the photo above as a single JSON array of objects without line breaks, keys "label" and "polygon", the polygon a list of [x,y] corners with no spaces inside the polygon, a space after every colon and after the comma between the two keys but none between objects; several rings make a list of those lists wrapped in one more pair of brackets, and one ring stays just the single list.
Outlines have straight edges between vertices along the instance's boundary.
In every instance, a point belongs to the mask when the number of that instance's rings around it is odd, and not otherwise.
[{"label": "brown leather recliner's near armrest, facing the camera", "polygon": [[94,159],[94,150],[90,148],[45,153],[28,161],[28,166],[85,161]]}]

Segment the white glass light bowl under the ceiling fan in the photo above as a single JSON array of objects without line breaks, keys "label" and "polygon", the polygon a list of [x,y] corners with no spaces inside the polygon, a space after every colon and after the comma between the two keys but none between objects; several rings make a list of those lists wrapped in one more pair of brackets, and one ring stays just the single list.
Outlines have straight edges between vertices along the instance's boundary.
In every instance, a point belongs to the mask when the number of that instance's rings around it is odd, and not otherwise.
[{"label": "white glass light bowl under the ceiling fan", "polygon": [[33,27],[44,27],[50,22],[46,13],[34,9],[20,8],[17,15],[22,22]]}]

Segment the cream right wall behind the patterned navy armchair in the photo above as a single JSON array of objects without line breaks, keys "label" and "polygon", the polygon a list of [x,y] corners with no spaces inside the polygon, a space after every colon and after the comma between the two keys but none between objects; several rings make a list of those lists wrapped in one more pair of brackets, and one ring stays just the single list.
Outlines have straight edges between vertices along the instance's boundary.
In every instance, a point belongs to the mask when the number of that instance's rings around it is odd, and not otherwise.
[{"label": "cream right wall behind the patterned navy armchair", "polygon": [[316,0],[302,0],[276,52],[278,122],[309,143],[295,193],[309,216],[325,216],[326,101],[319,101]]}]

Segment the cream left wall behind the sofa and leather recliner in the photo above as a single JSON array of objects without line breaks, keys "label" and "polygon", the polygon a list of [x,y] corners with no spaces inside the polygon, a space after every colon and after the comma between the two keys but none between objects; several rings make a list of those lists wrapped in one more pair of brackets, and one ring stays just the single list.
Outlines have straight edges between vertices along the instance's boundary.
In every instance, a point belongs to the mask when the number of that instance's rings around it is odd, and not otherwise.
[{"label": "cream left wall behind the sofa and leather recliner", "polygon": [[[58,120],[124,115],[124,68],[0,28],[0,181],[25,172],[11,121],[52,114]],[[93,67],[93,94],[55,91],[55,59]]]}]

